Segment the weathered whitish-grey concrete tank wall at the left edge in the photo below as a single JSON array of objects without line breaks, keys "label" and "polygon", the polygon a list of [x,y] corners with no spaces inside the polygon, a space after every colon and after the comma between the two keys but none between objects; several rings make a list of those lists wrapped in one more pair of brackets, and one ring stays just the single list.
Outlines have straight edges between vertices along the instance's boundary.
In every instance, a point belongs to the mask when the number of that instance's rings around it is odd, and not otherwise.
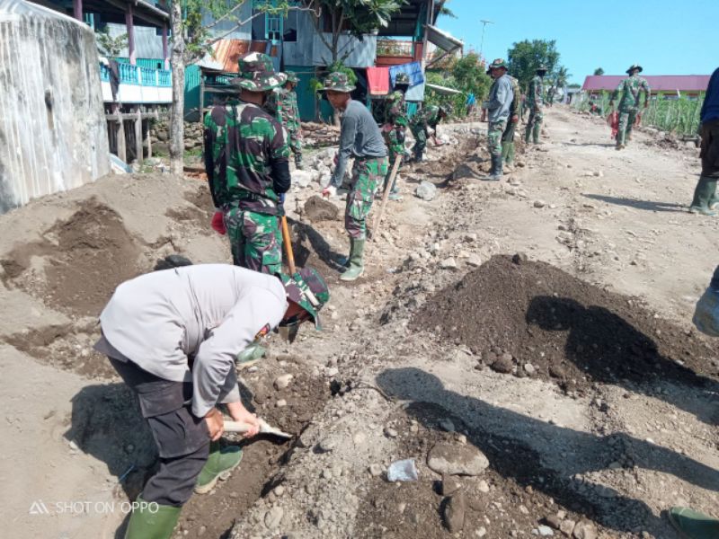
[{"label": "weathered whitish-grey concrete tank wall at the left edge", "polygon": [[110,172],[93,31],[0,0],[0,213]]}]

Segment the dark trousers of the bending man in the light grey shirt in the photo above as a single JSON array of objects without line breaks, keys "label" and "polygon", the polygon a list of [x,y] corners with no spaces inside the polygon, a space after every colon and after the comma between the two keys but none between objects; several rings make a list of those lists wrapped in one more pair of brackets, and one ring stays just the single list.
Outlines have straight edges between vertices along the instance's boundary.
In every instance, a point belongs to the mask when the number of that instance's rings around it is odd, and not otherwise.
[{"label": "dark trousers of the bending man in the light grey shirt", "polygon": [[151,375],[130,361],[110,358],[112,367],[138,395],[142,416],[155,438],[160,469],[142,490],[142,499],[182,507],[191,498],[209,456],[204,418],[192,415],[192,384]]}]

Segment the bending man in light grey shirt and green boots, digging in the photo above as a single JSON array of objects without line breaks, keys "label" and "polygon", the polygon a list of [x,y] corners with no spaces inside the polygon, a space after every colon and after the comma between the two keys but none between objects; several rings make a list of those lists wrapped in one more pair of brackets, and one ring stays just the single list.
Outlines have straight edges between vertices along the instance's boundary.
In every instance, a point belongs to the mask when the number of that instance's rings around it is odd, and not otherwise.
[{"label": "bending man in light grey shirt and green boots, digging", "polygon": [[[95,349],[137,393],[155,438],[160,468],[146,482],[126,539],[169,538],[192,490],[209,492],[242,458],[220,449],[226,405],[233,421],[260,421],[240,401],[235,358],[270,331],[290,342],[329,300],[315,270],[266,275],[229,264],[160,270],[122,283],[100,315]],[[146,503],[142,503],[146,502]]]}]

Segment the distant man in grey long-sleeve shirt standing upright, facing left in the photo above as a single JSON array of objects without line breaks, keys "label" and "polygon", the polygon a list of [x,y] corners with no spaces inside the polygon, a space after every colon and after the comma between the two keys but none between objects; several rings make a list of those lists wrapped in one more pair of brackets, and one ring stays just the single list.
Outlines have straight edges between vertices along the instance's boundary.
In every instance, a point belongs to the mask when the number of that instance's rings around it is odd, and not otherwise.
[{"label": "distant man in grey long-sleeve shirt standing upright, facing left", "polygon": [[502,178],[502,136],[510,117],[510,107],[514,99],[510,77],[507,76],[507,64],[497,58],[490,65],[494,82],[489,90],[487,101],[482,108],[487,110],[489,128],[487,129],[487,146],[492,156],[492,171],[485,178],[498,181]]}]

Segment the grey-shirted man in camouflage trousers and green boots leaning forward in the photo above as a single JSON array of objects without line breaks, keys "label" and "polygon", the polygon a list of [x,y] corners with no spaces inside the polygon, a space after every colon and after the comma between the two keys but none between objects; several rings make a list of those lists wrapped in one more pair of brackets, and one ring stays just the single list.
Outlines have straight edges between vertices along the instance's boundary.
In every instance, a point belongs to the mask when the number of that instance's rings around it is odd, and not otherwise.
[{"label": "grey-shirted man in camouflage trousers and green boots leaning forward", "polygon": [[387,173],[387,148],[382,132],[371,112],[361,102],[354,101],[354,90],[347,75],[331,73],[324,80],[324,92],[333,108],[342,112],[340,151],[337,155],[330,185],[323,196],[332,197],[342,184],[347,161],[354,157],[350,192],[344,210],[344,227],[350,235],[350,256],[343,265],[347,270],[341,280],[352,281],[364,271],[364,249],[367,239],[367,216],[375,193]]}]

